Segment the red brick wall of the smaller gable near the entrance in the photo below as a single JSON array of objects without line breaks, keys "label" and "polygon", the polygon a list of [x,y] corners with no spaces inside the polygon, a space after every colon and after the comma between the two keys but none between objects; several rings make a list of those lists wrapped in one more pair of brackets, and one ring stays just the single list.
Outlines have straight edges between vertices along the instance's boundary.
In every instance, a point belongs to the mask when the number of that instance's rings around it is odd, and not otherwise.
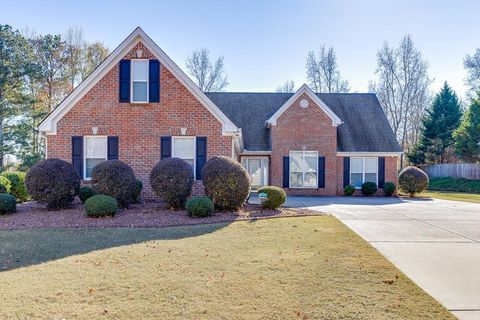
[{"label": "red brick wall of the smaller gable near the entrance", "polygon": [[[307,99],[309,106],[300,107],[300,101]],[[291,195],[334,195],[337,192],[337,128],[307,94],[300,96],[278,119],[271,128],[271,184],[282,187],[283,157],[290,151],[318,151],[325,157],[325,188],[293,189]]]}]

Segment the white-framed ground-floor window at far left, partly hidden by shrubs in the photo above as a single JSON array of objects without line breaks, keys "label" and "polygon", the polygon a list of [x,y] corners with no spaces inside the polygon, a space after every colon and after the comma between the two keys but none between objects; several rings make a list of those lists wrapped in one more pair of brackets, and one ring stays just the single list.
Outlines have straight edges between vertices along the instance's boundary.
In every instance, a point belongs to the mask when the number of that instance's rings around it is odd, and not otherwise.
[{"label": "white-framed ground-floor window at far left, partly hidden by shrubs", "polygon": [[83,175],[84,179],[91,179],[93,168],[107,160],[107,137],[85,136],[83,139]]}]

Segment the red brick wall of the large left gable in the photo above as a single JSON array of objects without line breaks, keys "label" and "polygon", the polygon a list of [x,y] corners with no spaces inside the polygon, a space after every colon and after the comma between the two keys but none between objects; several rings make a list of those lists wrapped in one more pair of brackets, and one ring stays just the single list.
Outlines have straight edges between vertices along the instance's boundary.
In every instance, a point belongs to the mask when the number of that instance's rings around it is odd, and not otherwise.
[{"label": "red brick wall of the large left gable", "polygon": [[[125,59],[154,56],[140,43]],[[143,196],[152,197],[148,176],[160,160],[160,136],[207,137],[207,156],[232,155],[232,138],[222,136],[221,123],[163,65],[160,67],[160,103],[118,102],[118,65],[112,68],[58,123],[57,134],[47,136],[48,157],[71,161],[71,137],[98,135],[119,137],[119,159],[132,166],[144,182]],[[201,183],[200,183],[201,184]],[[200,186],[195,186],[197,192]]]}]

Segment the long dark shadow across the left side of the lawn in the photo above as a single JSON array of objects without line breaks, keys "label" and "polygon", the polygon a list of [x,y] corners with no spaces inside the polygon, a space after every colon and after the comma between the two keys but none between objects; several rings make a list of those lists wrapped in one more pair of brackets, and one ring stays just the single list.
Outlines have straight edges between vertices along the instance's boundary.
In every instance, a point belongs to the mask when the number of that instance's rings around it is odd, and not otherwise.
[{"label": "long dark shadow across the left side of the lawn", "polygon": [[41,228],[0,231],[0,271],[95,250],[212,233],[231,222],[167,228]]}]

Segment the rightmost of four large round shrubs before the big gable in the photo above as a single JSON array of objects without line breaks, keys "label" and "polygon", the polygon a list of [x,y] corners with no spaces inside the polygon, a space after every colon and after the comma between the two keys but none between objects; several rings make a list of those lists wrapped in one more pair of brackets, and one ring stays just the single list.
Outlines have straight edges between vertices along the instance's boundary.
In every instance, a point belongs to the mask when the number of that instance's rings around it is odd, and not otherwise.
[{"label": "rightmost of four large round shrubs before the big gable", "polygon": [[250,194],[250,176],[237,161],[213,157],[203,166],[205,194],[219,210],[238,210]]}]

